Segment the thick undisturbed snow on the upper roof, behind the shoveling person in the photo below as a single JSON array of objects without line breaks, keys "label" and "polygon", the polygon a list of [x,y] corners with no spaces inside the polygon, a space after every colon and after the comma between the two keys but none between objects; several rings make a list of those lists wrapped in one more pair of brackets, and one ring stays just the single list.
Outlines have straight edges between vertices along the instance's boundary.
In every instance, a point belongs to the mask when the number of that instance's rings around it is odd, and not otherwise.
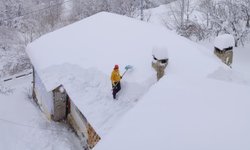
[{"label": "thick undisturbed snow on the upper roof, behind the shoveling person", "polygon": [[[144,82],[155,74],[150,67],[155,46],[169,50],[173,73],[190,74],[210,64],[198,72],[206,76],[218,67],[218,63],[206,59],[194,43],[166,28],[106,12],[42,36],[28,45],[27,53],[41,78],[42,70],[64,63],[83,69],[96,67],[106,75],[110,75],[115,64],[120,68],[131,64],[136,69],[125,80]],[[197,59],[202,61],[196,63]],[[190,60],[185,62],[189,66],[186,69],[180,66],[185,60]],[[58,86],[52,82],[45,83],[48,91]]]}]

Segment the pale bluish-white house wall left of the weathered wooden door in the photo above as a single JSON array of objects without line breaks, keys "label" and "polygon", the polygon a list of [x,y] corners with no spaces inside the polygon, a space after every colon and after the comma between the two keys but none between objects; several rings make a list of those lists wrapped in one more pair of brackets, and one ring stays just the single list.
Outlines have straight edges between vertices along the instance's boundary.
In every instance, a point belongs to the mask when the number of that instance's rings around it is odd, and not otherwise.
[{"label": "pale bluish-white house wall left of the weathered wooden door", "polygon": [[51,119],[54,114],[53,93],[47,92],[36,70],[35,73],[35,93],[38,103],[42,105],[44,113]]}]

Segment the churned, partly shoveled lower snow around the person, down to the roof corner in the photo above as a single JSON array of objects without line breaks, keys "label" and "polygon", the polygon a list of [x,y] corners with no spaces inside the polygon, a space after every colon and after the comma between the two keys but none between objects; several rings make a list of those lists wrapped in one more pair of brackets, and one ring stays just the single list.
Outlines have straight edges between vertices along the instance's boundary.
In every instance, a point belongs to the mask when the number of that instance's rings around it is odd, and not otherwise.
[{"label": "churned, partly shoveled lower snow around the person, down to the roof corner", "polygon": [[[121,75],[124,71],[125,69],[120,68]],[[112,69],[110,74],[111,72]],[[127,71],[123,78],[132,72],[133,69]],[[118,100],[114,100],[110,76],[97,68],[83,69],[65,63],[45,69],[43,77],[44,82],[55,84],[57,83],[51,81],[57,81],[59,77],[71,100],[101,137],[156,83],[156,75],[142,83],[121,80],[122,90],[117,94]]]}]

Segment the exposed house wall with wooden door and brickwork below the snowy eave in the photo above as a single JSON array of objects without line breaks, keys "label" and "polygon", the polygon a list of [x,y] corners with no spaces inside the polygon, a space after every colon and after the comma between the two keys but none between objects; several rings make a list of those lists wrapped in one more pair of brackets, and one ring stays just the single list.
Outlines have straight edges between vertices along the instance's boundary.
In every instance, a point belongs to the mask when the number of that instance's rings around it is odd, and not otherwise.
[{"label": "exposed house wall with wooden door and brickwork below the snowy eave", "polygon": [[69,97],[67,90],[60,85],[47,91],[35,67],[33,69],[33,99],[41,105],[48,119],[67,120],[76,134],[84,137],[81,140],[87,142],[87,146],[92,149],[101,138]]}]

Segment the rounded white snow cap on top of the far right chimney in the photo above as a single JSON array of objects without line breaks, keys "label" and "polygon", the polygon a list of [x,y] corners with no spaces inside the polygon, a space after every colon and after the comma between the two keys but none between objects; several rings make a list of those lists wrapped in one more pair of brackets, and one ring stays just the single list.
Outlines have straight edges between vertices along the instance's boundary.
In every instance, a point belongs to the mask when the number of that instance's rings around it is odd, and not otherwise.
[{"label": "rounded white snow cap on top of the far right chimney", "polygon": [[230,34],[219,35],[214,40],[214,47],[217,47],[220,50],[234,47],[234,37]]}]

